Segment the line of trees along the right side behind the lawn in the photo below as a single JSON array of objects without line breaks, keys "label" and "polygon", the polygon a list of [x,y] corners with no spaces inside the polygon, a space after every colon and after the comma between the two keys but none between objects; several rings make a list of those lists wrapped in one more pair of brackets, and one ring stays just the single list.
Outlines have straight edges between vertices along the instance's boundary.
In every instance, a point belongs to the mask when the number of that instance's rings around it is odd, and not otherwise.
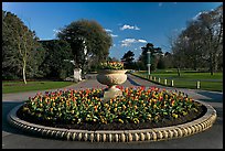
[{"label": "line of trees along the right side behind the lawn", "polygon": [[161,47],[148,43],[141,47],[137,61],[129,50],[121,61],[126,68],[147,69],[147,52],[151,52],[151,69],[178,68],[204,69],[211,75],[223,71],[223,6],[208,12],[202,12],[196,20],[188,22],[186,29],[179,35],[169,37],[171,51],[162,53]]}]

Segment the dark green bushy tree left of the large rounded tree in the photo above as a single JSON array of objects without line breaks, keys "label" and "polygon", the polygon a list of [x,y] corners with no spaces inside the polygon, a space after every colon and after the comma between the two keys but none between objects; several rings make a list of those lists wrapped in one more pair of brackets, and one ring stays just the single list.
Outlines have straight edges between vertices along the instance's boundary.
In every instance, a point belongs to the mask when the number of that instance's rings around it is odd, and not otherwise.
[{"label": "dark green bushy tree left of the large rounded tree", "polygon": [[47,78],[60,78],[73,75],[73,64],[64,60],[73,60],[69,44],[62,40],[40,41],[42,43],[45,57],[40,66]]}]

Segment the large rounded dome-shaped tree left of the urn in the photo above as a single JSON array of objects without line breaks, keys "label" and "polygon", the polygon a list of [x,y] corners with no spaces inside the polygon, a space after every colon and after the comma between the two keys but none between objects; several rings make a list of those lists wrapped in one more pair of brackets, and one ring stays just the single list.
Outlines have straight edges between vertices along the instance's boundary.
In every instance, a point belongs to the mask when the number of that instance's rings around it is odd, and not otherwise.
[{"label": "large rounded dome-shaped tree left of the urn", "polygon": [[[62,29],[57,37],[71,44],[76,67],[84,68],[85,57],[95,60],[95,63],[106,61],[111,46],[111,36],[96,21],[78,20]],[[84,43],[87,54],[84,56]]]}]

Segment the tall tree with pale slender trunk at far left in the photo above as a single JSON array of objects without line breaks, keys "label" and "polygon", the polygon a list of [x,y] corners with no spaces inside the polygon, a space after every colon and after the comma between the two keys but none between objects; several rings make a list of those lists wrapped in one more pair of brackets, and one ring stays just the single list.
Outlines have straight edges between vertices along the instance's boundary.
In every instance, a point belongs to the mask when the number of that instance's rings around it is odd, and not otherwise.
[{"label": "tall tree with pale slender trunk at far left", "polygon": [[41,45],[35,32],[29,30],[15,14],[2,11],[2,74],[12,71],[15,75],[22,75],[26,84],[26,74],[32,77],[39,73],[39,56],[43,52],[38,48]]}]

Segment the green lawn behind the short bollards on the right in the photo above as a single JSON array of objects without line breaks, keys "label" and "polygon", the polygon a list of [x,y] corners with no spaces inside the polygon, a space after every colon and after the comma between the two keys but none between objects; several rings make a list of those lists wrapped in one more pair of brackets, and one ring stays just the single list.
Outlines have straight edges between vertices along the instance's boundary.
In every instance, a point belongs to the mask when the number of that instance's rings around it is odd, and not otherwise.
[{"label": "green lawn behind the short bollards on the right", "polygon": [[[147,78],[148,75],[147,71],[136,72],[133,74],[142,78]],[[173,87],[196,89],[196,82],[200,80],[200,89],[223,91],[223,73],[211,75],[210,73],[181,71],[181,76],[179,77],[175,69],[161,69],[152,72],[151,76],[157,77],[154,83],[161,85],[164,85],[164,79],[167,79],[167,86],[171,86],[171,80],[173,80]]]}]

